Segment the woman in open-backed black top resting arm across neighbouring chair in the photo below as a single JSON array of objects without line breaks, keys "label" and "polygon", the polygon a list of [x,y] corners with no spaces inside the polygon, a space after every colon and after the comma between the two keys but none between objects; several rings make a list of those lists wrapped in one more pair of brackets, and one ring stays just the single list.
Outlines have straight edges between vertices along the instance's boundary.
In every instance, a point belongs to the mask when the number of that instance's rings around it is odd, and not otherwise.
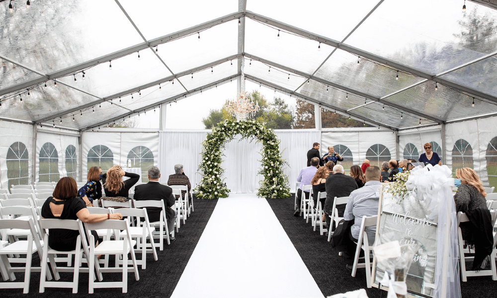
[{"label": "woman in open-backed black top resting arm across neighbouring chair", "polygon": [[[78,185],[71,177],[62,177],[54,189],[54,196],[49,197],[41,208],[41,217],[44,219],[80,220],[83,223],[99,223],[108,219],[120,220],[120,213],[90,214],[84,201],[77,197]],[[98,235],[90,231],[98,244]],[[76,239],[79,231],[65,228],[51,228],[48,233],[48,245],[55,250],[71,251],[76,249]]]}]

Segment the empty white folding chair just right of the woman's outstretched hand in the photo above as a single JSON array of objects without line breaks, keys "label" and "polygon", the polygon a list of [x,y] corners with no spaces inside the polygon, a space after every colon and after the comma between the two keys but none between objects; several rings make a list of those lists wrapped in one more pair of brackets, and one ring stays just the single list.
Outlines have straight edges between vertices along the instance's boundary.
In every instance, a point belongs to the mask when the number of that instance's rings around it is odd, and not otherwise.
[{"label": "empty white folding chair just right of the woman's outstretched hand", "polygon": [[[130,226],[129,232],[132,239],[136,240],[135,255],[137,252],[142,254],[142,259],[137,260],[137,265],[141,265],[142,269],[147,268],[147,251],[154,255],[154,260],[158,260],[157,251],[155,249],[154,236],[152,234],[152,229],[150,228],[149,216],[145,209],[140,208],[121,208],[113,209],[112,213],[120,213],[123,217],[128,217],[128,219],[136,220],[136,226]],[[141,224],[141,219],[144,219],[143,224]],[[122,231],[120,237],[123,238],[127,235],[126,231]],[[151,249],[147,249],[147,238],[150,239]]]}]

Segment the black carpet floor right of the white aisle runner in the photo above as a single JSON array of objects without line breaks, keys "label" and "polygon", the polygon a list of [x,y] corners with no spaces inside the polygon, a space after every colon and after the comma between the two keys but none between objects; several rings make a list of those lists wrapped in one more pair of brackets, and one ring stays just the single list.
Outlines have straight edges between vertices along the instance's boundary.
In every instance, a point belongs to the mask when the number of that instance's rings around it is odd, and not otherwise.
[{"label": "black carpet floor right of the white aisle runner", "polygon": [[[325,297],[357,289],[366,289],[370,298],[382,297],[383,291],[367,289],[364,269],[358,269],[355,278],[352,277],[345,268],[344,260],[331,247],[328,239],[320,235],[319,229],[313,231],[311,224],[306,224],[303,217],[293,216],[293,196],[267,199],[267,202]],[[497,297],[497,281],[493,281],[491,276],[469,277],[468,282],[461,282],[461,293],[463,298],[494,298]],[[383,292],[383,297],[386,297],[386,292]]]}]

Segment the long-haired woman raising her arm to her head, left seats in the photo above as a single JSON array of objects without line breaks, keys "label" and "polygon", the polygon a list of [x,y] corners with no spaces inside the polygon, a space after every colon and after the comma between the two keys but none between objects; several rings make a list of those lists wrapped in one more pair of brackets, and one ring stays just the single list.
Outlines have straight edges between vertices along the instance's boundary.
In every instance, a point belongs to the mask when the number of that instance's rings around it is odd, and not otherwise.
[{"label": "long-haired woman raising her arm to her head, left seats", "polygon": [[[123,181],[123,176],[129,177]],[[123,171],[120,165],[114,165],[102,175],[103,189],[107,197],[129,197],[129,190],[138,182],[140,175]]]}]

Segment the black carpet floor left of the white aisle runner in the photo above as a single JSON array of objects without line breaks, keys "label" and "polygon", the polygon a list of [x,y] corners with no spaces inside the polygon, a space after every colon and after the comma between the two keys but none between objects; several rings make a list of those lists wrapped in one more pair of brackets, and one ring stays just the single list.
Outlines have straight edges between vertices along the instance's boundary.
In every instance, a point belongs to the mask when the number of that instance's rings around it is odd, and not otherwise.
[{"label": "black carpet floor left of the white aisle runner", "polygon": [[[197,242],[216,207],[217,200],[195,200],[195,211],[181,223],[176,241],[170,245],[167,243],[164,250],[157,250],[158,261],[154,261],[152,254],[147,254],[147,269],[142,270],[138,266],[140,280],[135,280],[134,273],[128,274],[128,293],[122,294],[121,289],[95,289],[94,296],[102,298],[126,297],[126,298],[168,298],[171,296],[176,284],[190,259]],[[141,259],[141,254],[137,254]],[[111,259],[112,260],[112,259]],[[38,266],[39,257],[33,255],[33,266]],[[111,263],[113,264],[113,263]],[[104,281],[120,281],[121,273],[104,273]],[[24,279],[23,273],[16,273],[16,281]],[[72,281],[73,275],[62,273],[64,281]],[[38,293],[40,286],[40,273],[31,274],[29,294],[22,294],[22,289],[0,289],[1,298],[66,298],[66,297],[88,297],[88,274],[80,273],[78,294],[72,294],[72,289],[47,288],[45,293]]]}]

